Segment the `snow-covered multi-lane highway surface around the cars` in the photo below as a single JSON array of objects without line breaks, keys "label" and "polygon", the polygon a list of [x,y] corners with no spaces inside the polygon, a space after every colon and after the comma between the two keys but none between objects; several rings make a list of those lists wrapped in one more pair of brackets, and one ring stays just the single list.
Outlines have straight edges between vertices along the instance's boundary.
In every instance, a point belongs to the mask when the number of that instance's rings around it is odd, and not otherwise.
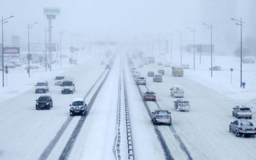
[{"label": "snow-covered multi-lane highway surface around the cars", "polygon": [[[0,159],[59,159],[82,119],[69,116],[69,104],[77,97],[85,97],[89,103],[94,96],[89,114],[63,159],[115,159],[120,77],[125,78],[127,87],[135,159],[255,159],[256,139],[236,137],[228,130],[229,123],[236,119],[232,116],[236,102],[187,77],[173,77],[171,68],[156,64],[145,65],[138,71],[146,77],[148,71],[163,68],[163,82],[155,83],[147,77],[147,86],[137,88],[125,55],[116,56],[111,70],[100,65],[102,59],[104,56],[94,55],[66,71],[65,75],[75,79],[74,94],[60,94],[52,77],[47,93],[53,98],[51,110],[35,110],[35,100],[42,94],[35,94],[32,84],[27,92],[2,101]],[[141,60],[134,60],[135,67],[138,63]],[[174,85],[183,86],[191,111],[175,111],[176,98],[170,96]],[[156,102],[144,103],[139,90],[154,91]],[[172,126],[154,126],[148,111],[155,109],[171,111]],[[121,110],[123,116],[124,108]],[[254,115],[251,122],[256,124]],[[122,122],[122,129],[124,125]],[[127,139],[125,135],[121,137],[120,148],[125,149]],[[122,150],[121,155],[125,159],[126,151]]]}]

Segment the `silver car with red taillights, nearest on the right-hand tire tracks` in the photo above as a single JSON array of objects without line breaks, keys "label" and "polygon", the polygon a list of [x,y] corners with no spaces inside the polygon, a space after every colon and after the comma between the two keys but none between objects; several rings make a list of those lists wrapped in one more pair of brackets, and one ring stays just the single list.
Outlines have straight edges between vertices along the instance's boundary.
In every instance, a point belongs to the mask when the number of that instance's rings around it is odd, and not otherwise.
[{"label": "silver car with red taillights, nearest on the right-hand tire tracks", "polygon": [[167,110],[155,110],[151,113],[151,118],[154,124],[172,124],[171,113]]}]

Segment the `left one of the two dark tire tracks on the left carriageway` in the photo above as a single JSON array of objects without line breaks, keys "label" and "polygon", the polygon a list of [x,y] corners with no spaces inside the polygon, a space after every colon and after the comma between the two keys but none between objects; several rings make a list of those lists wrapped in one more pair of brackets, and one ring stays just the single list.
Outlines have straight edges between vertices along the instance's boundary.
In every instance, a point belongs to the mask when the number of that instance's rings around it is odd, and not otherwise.
[{"label": "left one of the two dark tire tracks on the left carriageway", "polygon": [[[104,72],[101,73],[100,77],[96,80],[96,82],[88,90],[88,92],[85,94],[84,98],[89,96],[89,94],[92,92],[93,88],[96,86],[98,81],[100,81],[101,77],[104,75],[105,72],[106,72],[106,70],[104,70]],[[68,125],[69,125],[69,123],[71,122],[72,119],[73,119],[73,116],[68,116],[67,120],[65,120],[63,125],[60,127],[59,131],[56,133],[55,137],[51,140],[51,142],[49,142],[49,144],[44,149],[43,153],[40,155],[40,157],[39,157],[40,160],[44,160],[44,159],[47,159],[49,157],[49,154],[51,154],[52,149],[55,147],[57,142],[60,140],[60,137],[65,132],[65,129],[67,129],[67,127],[68,127]]]}]

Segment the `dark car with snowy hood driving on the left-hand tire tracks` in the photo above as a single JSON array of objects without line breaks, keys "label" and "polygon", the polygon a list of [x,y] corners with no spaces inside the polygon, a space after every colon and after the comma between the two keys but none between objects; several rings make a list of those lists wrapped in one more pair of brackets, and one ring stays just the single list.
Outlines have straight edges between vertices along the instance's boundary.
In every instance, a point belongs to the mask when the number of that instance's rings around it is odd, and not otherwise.
[{"label": "dark car with snowy hood driving on the left-hand tire tracks", "polygon": [[87,105],[84,98],[75,98],[69,109],[69,115],[85,115],[87,112]]}]

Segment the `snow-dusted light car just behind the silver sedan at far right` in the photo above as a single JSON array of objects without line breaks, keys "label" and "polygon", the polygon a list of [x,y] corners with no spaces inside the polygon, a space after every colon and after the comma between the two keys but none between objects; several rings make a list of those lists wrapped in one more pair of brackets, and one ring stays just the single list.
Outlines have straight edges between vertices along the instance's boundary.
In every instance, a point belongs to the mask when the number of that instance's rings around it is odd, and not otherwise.
[{"label": "snow-dusted light car just behind the silver sedan at far right", "polygon": [[245,105],[239,105],[233,108],[232,115],[236,116],[237,118],[249,118],[253,116],[251,113],[251,109]]}]

